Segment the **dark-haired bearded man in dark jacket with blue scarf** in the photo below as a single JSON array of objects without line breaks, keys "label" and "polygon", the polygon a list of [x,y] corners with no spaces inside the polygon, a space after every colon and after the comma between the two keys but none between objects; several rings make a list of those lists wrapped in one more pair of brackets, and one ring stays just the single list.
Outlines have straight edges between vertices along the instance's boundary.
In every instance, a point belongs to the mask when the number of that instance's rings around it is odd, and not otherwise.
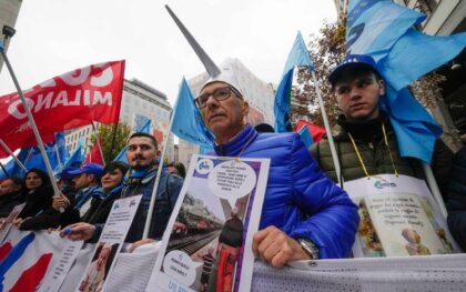
[{"label": "dark-haired bearded man in dark jacket with blue scarf", "polygon": [[[121,198],[142,194],[141,203],[125,239],[125,242],[134,243],[130,248],[133,250],[143,243],[162,238],[181,187],[183,185],[183,179],[176,174],[170,174],[164,169],[162,170],[155,195],[156,203],[149,230],[149,239],[142,240],[152,190],[159,169],[158,143],[153,135],[138,132],[130,137],[126,147],[126,159],[131,168],[124,178]],[[97,240],[103,225],[92,225],[81,222],[70,225],[70,238],[73,240]],[[62,232],[61,235],[64,236],[65,234]]]}]

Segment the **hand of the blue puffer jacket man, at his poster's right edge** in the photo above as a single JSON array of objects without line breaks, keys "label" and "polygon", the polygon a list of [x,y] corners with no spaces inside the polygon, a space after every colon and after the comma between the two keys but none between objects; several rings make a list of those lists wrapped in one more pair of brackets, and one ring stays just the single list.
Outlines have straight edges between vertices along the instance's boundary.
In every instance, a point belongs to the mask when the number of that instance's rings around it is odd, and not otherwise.
[{"label": "hand of the blue puffer jacket man, at his poster's right edge", "polygon": [[255,258],[281,268],[290,261],[311,260],[300,243],[275,226],[257,231],[253,238]]}]

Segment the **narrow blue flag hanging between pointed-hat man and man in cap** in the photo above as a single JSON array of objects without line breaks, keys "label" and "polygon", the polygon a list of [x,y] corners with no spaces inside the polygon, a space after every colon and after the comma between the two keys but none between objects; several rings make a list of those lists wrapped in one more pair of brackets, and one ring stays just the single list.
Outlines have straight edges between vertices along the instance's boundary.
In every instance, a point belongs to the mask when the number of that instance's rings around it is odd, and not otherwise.
[{"label": "narrow blue flag hanging between pointed-hat man and man in cap", "polygon": [[290,121],[291,111],[291,89],[293,83],[294,68],[296,66],[306,66],[310,71],[314,70],[306,44],[304,43],[301,32],[297,32],[293,48],[283,70],[282,80],[275,93],[274,113],[275,113],[275,131],[292,131]]}]

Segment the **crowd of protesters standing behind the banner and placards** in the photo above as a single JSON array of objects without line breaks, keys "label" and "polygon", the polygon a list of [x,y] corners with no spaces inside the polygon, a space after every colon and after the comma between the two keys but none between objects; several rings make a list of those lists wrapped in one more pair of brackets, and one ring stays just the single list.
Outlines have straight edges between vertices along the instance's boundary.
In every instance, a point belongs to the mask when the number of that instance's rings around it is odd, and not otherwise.
[{"label": "crowd of protesters standing behind the banner and placards", "polygon": [[[340,171],[332,161],[326,139],[306,149],[296,133],[278,134],[262,128],[257,131],[245,123],[249,103],[239,78],[229,64],[223,66],[221,73],[202,87],[195,103],[215,135],[213,155],[271,159],[260,231],[254,234],[252,245],[257,259],[283,266],[288,261],[351,255],[359,214],[344,191],[344,183],[343,189],[335,184],[336,173],[341,173],[342,182],[386,173],[426,179],[419,161],[398,153],[391,120],[378,105],[385,97],[385,83],[371,57],[348,56],[328,78],[342,112],[334,129]],[[24,202],[14,221],[19,229],[69,226],[70,233],[62,232],[62,236],[97,242],[113,201],[142,194],[125,242],[132,243],[131,251],[160,240],[183,184],[184,165],[170,163],[162,169],[149,236],[143,238],[160,168],[158,141],[138,132],[126,145],[129,164],[113,161],[104,168],[87,163],[64,169],[57,178],[61,190],[58,194],[53,193],[47,173],[38,169],[29,170],[24,178],[3,180],[0,217],[6,218],[14,205]],[[466,248],[465,154],[463,148],[454,155],[438,140],[432,160],[447,202],[449,229],[463,249]]]}]

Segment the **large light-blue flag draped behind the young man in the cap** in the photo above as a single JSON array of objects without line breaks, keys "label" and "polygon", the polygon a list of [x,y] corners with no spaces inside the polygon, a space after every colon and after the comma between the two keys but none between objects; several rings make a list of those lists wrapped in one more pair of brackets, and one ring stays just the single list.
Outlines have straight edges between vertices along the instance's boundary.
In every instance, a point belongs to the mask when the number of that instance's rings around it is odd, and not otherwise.
[{"label": "large light-blue flag draped behind the young man in the cap", "polygon": [[466,46],[466,34],[426,36],[414,30],[425,16],[388,0],[350,2],[347,53],[368,54],[386,83],[381,108],[393,123],[399,154],[430,163],[442,128],[406,85],[449,61]]}]

